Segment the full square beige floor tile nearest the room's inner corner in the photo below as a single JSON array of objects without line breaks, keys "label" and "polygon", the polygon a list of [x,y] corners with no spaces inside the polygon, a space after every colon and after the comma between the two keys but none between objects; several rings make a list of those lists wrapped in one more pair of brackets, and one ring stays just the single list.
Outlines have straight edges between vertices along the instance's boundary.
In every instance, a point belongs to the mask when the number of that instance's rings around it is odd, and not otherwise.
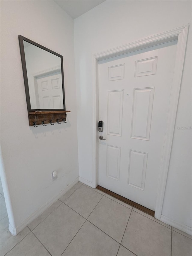
[{"label": "full square beige floor tile nearest the room's inner corner", "polygon": [[64,203],[87,218],[102,197],[103,195],[82,185]]}]

